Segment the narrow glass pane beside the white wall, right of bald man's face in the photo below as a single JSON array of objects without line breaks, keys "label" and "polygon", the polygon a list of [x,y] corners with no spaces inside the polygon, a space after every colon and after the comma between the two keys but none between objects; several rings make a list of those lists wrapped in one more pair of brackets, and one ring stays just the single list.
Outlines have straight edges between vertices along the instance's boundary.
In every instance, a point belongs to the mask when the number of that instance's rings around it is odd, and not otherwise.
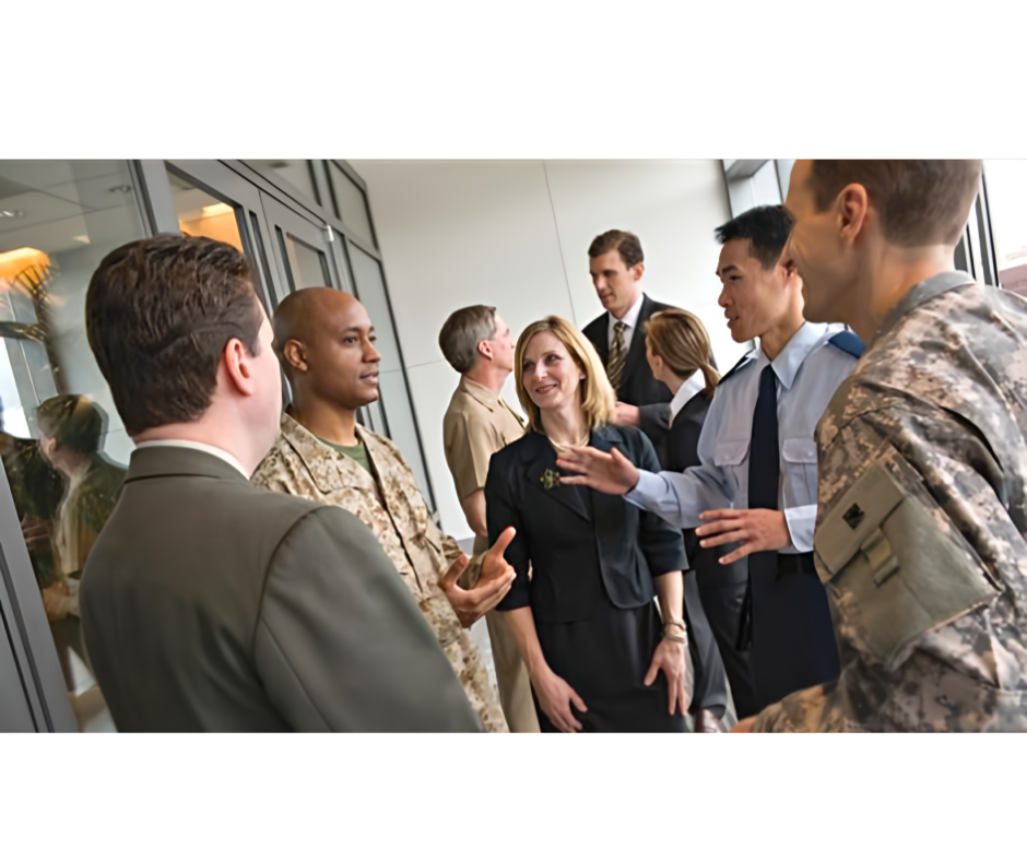
[{"label": "narrow glass pane beside the white wall, right of bald man's face", "polygon": [[434,510],[435,499],[432,496],[427,470],[421,457],[413,404],[410,402],[403,366],[400,363],[400,351],[397,345],[396,330],[392,328],[392,315],[389,314],[389,299],[386,294],[385,280],[381,276],[381,264],[354,245],[349,245],[349,249],[357,298],[367,308],[375,333],[378,335],[376,346],[381,354],[381,362],[378,366],[378,390],[381,394],[381,410],[388,424],[388,435],[399,447],[403,459],[410,464],[425,502]]}]

